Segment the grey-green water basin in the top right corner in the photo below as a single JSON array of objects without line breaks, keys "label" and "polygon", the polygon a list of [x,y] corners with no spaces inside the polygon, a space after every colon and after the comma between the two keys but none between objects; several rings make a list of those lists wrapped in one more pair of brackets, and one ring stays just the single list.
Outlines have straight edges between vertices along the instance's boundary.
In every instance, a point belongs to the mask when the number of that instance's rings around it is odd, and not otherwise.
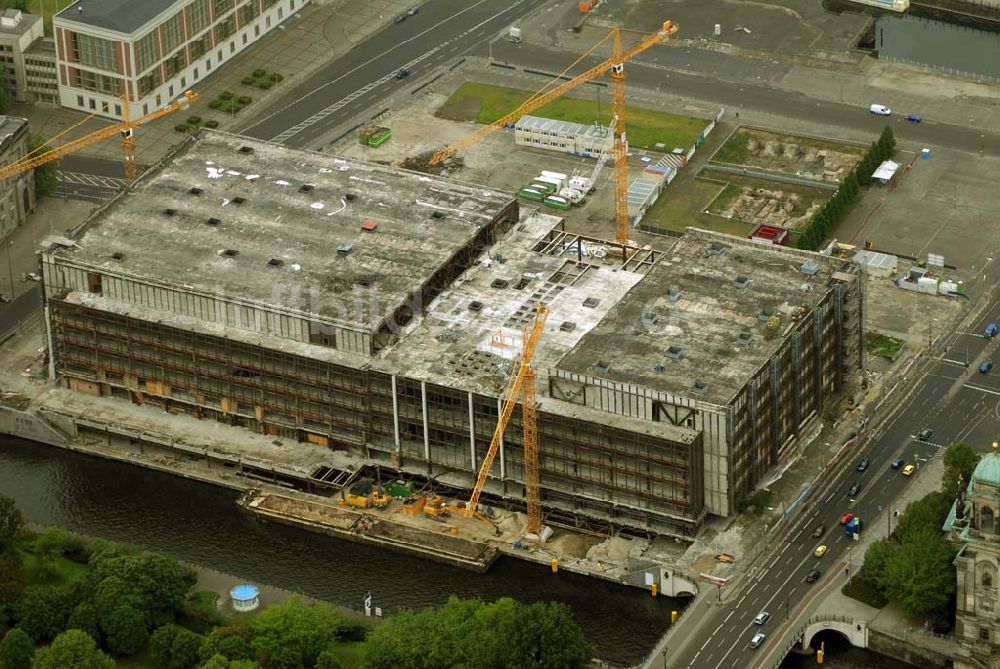
[{"label": "grey-green water basin in the top right corner", "polygon": [[929,65],[962,76],[1000,78],[1000,34],[914,16],[875,21],[879,58]]}]

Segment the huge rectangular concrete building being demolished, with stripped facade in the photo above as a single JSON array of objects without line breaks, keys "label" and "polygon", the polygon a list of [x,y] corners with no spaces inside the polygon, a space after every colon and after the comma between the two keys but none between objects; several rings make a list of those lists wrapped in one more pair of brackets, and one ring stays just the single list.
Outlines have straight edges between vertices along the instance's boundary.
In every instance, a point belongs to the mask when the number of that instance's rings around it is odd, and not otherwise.
[{"label": "huge rectangular concrete building being demolished, with stripped facade", "polygon": [[[545,513],[634,532],[730,514],[861,364],[848,261],[699,231],[622,247],[485,186],[221,133],[42,264],[61,384],[465,490],[544,304]],[[484,494],[523,501],[518,413]]]}]

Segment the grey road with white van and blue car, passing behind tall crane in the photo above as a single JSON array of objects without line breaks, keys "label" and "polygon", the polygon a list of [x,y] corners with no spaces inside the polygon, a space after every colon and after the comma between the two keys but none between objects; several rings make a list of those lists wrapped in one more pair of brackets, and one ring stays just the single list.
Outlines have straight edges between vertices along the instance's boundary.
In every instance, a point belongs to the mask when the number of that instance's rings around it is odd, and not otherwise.
[{"label": "grey road with white van and blue car, passing behind tall crane", "polygon": [[[561,72],[577,58],[572,53],[543,45],[515,45],[502,41],[493,45],[493,57],[495,61],[507,62],[522,69],[535,69],[552,74]],[[948,146],[970,152],[984,150],[992,155],[1000,153],[1000,134],[980,132],[974,127],[953,125],[934,119],[925,119],[923,123],[908,123],[900,114],[887,119],[872,114],[867,108],[790,94],[771,88],[767,83],[767,79],[780,75],[786,69],[785,66],[744,61],[739,70],[734,71],[731,68],[737,63],[737,59],[723,60],[723,58],[727,57],[710,52],[692,53],[690,49],[658,45],[636,56],[626,65],[626,82],[632,82],[649,90],[659,90],[668,99],[673,96],[691,98],[725,107],[730,112],[751,109],[798,120],[812,120],[817,127],[852,128],[872,135],[880,133],[888,123],[893,126],[897,137],[907,144]],[[685,73],[684,70],[689,69],[691,61],[695,59],[698,61],[697,67],[709,68],[706,71],[712,74],[703,76]],[[601,58],[585,59],[579,66],[580,69],[575,71],[582,71],[584,63],[589,66],[600,60]],[[715,66],[726,69],[719,75],[710,69]],[[755,80],[754,77],[757,75],[750,74],[749,70],[743,71],[745,68],[752,68],[760,73],[759,84],[732,82],[719,78],[728,75]]]}]

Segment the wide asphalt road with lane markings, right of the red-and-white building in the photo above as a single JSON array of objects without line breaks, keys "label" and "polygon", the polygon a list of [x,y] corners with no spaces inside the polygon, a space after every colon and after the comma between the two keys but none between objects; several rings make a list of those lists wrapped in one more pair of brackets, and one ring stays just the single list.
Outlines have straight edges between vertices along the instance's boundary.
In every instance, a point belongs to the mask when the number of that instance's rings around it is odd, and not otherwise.
[{"label": "wide asphalt road with lane markings, right of the red-and-white building", "polygon": [[[483,47],[545,0],[439,0],[403,23],[389,25],[275,103],[244,135],[294,147],[314,145],[330,129],[362,112],[377,114],[384,99],[412,88],[438,67]],[[397,79],[401,68],[412,74]]]}]

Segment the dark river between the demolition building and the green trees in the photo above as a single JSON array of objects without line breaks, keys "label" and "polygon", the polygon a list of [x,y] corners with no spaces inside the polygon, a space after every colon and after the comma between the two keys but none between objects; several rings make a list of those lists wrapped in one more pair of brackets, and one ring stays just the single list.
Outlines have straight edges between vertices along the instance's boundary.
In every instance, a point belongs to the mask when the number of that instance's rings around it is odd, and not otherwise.
[{"label": "dark river between the demolition building and the green trees", "polygon": [[34,523],[129,542],[248,580],[392,613],[451,594],[569,605],[598,655],[638,662],[682,601],[501,557],[486,574],[382,551],[240,511],[236,492],[0,436],[0,492]]}]

